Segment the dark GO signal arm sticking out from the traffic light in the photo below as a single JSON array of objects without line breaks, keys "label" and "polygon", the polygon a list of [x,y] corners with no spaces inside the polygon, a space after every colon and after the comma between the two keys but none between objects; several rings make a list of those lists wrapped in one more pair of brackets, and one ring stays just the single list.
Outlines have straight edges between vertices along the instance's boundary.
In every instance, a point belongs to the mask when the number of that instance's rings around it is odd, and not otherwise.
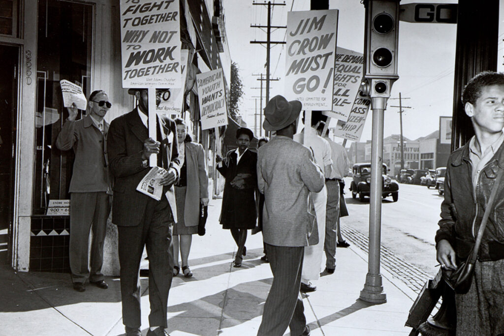
[{"label": "dark GO signal arm sticking out from the traffic light", "polygon": [[399,20],[417,23],[457,23],[458,4],[420,4],[400,6]]}]

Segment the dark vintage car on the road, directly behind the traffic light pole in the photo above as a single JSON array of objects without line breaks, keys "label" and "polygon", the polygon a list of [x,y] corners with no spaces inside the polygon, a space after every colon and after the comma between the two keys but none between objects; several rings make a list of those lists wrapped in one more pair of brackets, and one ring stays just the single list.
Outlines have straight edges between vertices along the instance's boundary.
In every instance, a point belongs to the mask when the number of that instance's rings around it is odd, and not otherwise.
[{"label": "dark vintage car on the road, directly behind the traffic light pole", "polygon": [[[392,195],[392,200],[397,202],[399,198],[399,184],[387,176],[389,169],[387,165],[383,165],[382,171],[382,197]],[[359,195],[359,200],[364,201],[365,196],[369,196],[371,185],[371,164],[370,163],[356,163],[352,169],[353,180],[350,183],[350,190],[352,191],[352,198]]]}]

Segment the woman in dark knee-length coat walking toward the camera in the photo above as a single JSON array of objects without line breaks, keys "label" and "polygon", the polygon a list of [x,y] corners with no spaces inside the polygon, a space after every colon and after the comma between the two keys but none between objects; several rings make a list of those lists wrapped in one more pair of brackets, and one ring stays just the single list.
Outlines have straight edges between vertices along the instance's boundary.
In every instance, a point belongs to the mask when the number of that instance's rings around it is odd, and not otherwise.
[{"label": "woman in dark knee-length coat walking toward the camera", "polygon": [[247,229],[256,226],[256,188],[257,188],[257,154],[248,150],[254,133],[240,127],[236,130],[236,150],[229,151],[226,159],[217,155],[217,170],[225,177],[224,195],[220,223],[223,229],[231,230],[238,250],[234,267],[240,267],[242,255],[245,255]]}]

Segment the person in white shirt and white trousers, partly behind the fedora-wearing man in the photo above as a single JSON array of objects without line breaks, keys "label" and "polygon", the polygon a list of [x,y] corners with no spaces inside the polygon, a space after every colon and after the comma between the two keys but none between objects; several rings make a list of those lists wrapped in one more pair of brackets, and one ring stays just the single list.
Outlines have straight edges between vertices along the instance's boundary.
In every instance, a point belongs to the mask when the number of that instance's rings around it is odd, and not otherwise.
[{"label": "person in white shirt and white trousers, partly behind the fedora-wearing man", "polygon": [[[304,118],[303,118],[304,122]],[[313,118],[311,127],[305,125],[301,133],[294,135],[294,141],[303,144],[313,153],[314,161],[322,169],[322,173],[327,178],[331,174],[333,161],[331,159],[331,146],[317,132],[317,126],[320,121]],[[304,137],[306,132],[306,138]],[[310,281],[316,281],[320,278],[322,265],[322,255],[324,250],[324,236],[326,232],[326,208],[327,208],[327,188],[324,185],[321,191],[311,192],[310,197],[315,208],[317,216],[317,231],[319,235],[319,244],[307,246],[304,248],[303,273],[301,275],[301,292],[313,292],[317,287]]]}]

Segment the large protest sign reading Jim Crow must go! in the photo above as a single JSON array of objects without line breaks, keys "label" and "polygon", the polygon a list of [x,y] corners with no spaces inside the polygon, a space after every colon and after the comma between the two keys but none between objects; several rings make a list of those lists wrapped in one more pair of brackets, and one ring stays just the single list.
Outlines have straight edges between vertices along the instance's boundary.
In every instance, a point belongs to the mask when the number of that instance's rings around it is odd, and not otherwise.
[{"label": "large protest sign reading Jim Crow must go!", "polygon": [[338,10],[287,13],[285,95],[306,110],[333,107]]}]

